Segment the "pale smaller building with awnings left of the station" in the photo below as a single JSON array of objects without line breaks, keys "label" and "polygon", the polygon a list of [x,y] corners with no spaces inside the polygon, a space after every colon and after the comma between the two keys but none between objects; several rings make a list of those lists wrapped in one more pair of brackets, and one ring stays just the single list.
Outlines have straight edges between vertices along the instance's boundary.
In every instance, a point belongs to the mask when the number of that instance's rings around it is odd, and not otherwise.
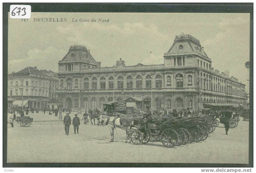
[{"label": "pale smaller building with awnings left of the station", "polygon": [[14,100],[12,106],[44,108],[57,103],[58,85],[57,73],[26,67],[8,74],[8,100]]}]

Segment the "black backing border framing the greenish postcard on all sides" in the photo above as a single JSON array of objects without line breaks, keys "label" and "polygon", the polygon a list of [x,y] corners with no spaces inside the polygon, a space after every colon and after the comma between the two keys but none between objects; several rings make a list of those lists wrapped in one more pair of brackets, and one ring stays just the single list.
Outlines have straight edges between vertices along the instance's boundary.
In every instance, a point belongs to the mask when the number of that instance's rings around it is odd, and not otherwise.
[{"label": "black backing border framing the greenish postcard on all sides", "polygon": [[[31,5],[32,12],[250,13],[249,164],[7,163],[7,123],[5,123],[7,116],[5,115],[8,107],[8,12],[12,4]],[[253,3],[3,3],[3,167],[253,167]]]}]

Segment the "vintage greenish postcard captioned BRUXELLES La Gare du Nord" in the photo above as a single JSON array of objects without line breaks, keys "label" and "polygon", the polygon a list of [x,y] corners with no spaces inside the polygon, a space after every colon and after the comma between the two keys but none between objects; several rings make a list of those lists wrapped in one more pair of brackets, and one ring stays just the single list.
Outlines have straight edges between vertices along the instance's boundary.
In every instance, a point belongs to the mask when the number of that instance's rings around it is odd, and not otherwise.
[{"label": "vintage greenish postcard captioned BRUXELLES La Gare du Nord", "polygon": [[249,163],[249,13],[10,13],[7,163]]}]

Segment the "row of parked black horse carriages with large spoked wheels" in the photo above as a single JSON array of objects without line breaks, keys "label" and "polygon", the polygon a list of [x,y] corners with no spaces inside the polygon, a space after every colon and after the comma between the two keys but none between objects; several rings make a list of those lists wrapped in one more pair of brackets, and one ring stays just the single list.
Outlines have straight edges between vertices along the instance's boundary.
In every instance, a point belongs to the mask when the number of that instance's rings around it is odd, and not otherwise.
[{"label": "row of parked black horse carriages with large spoked wheels", "polygon": [[141,125],[131,127],[130,140],[133,144],[160,140],[164,146],[174,147],[206,140],[217,125],[218,120],[211,116],[173,117],[166,121],[144,119]]}]

